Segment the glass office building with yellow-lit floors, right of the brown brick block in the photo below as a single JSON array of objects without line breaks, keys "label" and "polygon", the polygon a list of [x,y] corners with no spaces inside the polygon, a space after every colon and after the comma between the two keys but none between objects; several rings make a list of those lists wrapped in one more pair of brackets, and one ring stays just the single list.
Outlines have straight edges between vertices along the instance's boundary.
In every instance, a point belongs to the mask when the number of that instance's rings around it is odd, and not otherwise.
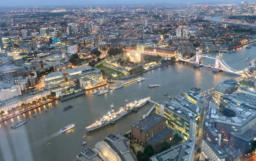
[{"label": "glass office building with yellow-lit floors, right of the brown brick block", "polygon": [[174,101],[156,103],[156,113],[166,118],[167,128],[188,140],[197,135],[202,109],[186,98],[177,97],[175,99]]}]

